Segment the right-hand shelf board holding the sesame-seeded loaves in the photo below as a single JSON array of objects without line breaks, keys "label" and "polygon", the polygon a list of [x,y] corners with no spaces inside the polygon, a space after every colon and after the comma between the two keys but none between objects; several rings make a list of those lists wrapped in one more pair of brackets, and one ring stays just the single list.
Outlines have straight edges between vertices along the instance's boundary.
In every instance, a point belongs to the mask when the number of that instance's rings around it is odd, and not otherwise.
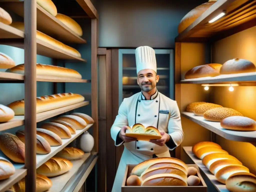
[{"label": "right-hand shelf board holding the sesame-seeded loaves", "polygon": [[220,126],[220,122],[206,121],[203,116],[196,116],[190,112],[182,112],[182,116],[228,140],[243,142],[255,142],[256,140],[256,131],[232,131],[224,129]]}]

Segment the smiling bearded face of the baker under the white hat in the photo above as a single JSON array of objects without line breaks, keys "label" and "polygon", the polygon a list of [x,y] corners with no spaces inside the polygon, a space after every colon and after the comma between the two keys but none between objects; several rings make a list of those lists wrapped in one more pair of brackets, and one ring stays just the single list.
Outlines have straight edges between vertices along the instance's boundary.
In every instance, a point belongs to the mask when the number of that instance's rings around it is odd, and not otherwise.
[{"label": "smiling bearded face of the baker under the white hat", "polygon": [[149,92],[156,87],[159,76],[152,69],[144,69],[138,72],[137,83],[142,91]]}]

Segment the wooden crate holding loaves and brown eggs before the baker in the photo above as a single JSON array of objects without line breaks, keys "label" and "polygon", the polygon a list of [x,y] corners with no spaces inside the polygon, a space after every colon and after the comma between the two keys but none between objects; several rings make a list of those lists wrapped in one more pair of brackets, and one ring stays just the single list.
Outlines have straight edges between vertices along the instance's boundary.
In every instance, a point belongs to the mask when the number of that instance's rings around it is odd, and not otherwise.
[{"label": "wooden crate holding loaves and brown eggs before the baker", "polygon": [[195,164],[189,164],[188,167],[195,167],[197,169],[197,174],[201,180],[200,184],[198,186],[127,186],[126,180],[130,176],[132,169],[136,165],[130,165],[128,164],[126,166],[125,172],[124,172],[124,179],[122,183],[122,192],[207,192],[207,185],[204,182],[204,179],[202,178],[199,168]]}]

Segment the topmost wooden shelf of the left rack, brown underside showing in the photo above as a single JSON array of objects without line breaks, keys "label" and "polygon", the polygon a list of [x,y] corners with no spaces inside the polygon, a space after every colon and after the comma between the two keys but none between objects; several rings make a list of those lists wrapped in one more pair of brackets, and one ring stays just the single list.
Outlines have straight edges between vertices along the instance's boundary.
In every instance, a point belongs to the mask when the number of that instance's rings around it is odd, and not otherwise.
[{"label": "topmost wooden shelf of the left rack, brown underside showing", "polygon": [[[8,0],[4,0],[8,1]],[[10,0],[1,2],[2,8],[12,10],[21,17],[24,17],[24,2]],[[74,33],[70,28],[64,25],[59,19],[52,16],[49,12],[37,4],[37,30],[45,33],[52,38],[62,42],[86,43],[86,40]]]}]

